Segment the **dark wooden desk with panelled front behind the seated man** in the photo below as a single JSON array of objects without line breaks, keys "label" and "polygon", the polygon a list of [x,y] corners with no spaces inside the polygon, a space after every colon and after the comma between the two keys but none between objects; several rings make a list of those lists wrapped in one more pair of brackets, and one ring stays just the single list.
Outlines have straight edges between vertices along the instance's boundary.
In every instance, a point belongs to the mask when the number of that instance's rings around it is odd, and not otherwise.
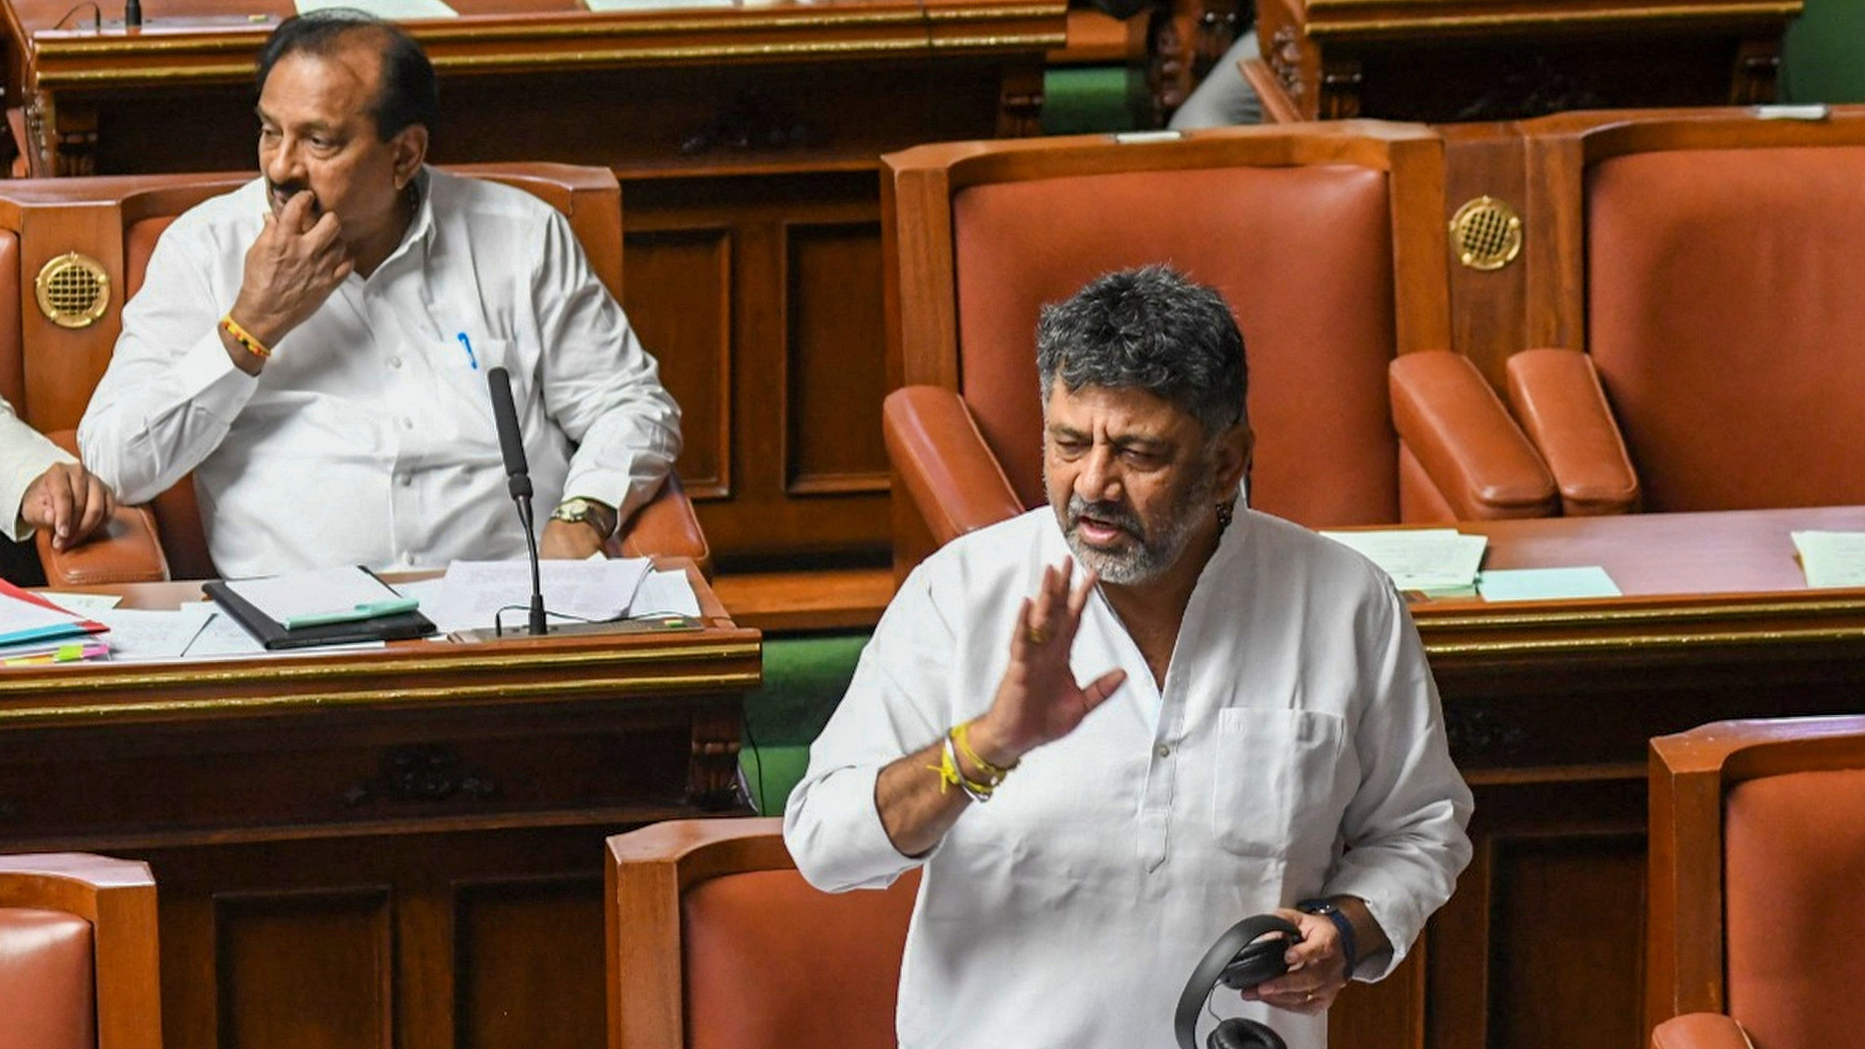
[{"label": "dark wooden desk with panelled front behind the seated man", "polygon": [[[289,2],[147,0],[131,34],[54,28],[69,6],[4,4],[32,173],[254,168],[252,61]],[[623,306],[681,402],[679,471],[714,555],[882,563],[878,158],[1037,134],[1065,2],[453,7],[408,26],[440,75],[433,160],[614,168]]]}]

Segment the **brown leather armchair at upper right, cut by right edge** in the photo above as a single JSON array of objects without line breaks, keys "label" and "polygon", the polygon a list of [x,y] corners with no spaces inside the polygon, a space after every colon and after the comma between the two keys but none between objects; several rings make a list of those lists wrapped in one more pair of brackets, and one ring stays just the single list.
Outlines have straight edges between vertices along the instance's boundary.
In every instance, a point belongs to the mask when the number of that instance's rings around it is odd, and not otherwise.
[{"label": "brown leather armchair at upper right, cut by right edge", "polygon": [[1865,106],[1561,114],[1509,397],[1568,514],[1865,503]]}]

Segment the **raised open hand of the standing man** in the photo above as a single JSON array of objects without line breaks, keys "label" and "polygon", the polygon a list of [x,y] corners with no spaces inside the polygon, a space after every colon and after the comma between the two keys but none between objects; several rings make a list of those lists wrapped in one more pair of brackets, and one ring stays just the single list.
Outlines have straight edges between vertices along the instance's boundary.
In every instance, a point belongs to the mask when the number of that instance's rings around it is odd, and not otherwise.
[{"label": "raised open hand of the standing man", "polygon": [[1126,680],[1126,671],[1108,671],[1085,686],[1074,680],[1069,654],[1082,626],[1082,609],[1095,593],[1095,574],[1069,589],[1074,561],[1043,568],[1043,585],[1016,613],[1011,665],[998,682],[998,695],[972,725],[972,745],[996,764],[1009,766],[1022,755],[1061,740]]}]

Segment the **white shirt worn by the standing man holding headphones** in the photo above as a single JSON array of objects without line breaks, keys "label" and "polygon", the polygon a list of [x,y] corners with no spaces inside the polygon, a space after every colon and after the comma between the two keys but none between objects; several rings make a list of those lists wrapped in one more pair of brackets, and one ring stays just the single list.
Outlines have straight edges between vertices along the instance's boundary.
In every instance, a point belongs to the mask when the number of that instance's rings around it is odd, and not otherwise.
[{"label": "white shirt worn by the standing man holding headphones", "polygon": [[[813,885],[880,887],[918,863],[888,840],[875,777],[988,708],[1018,604],[1065,555],[1041,507],[908,576],[789,799],[783,838]],[[1084,682],[1123,667],[1126,684],[929,853],[905,1049],[1169,1049],[1179,993],[1233,922],[1360,896],[1395,945],[1358,971],[1378,978],[1449,898],[1470,790],[1412,619],[1358,553],[1238,511],[1164,689],[1100,594],[1071,665]],[[1322,1015],[1222,988],[1212,1008],[1268,1021],[1291,1049],[1326,1043]]]}]

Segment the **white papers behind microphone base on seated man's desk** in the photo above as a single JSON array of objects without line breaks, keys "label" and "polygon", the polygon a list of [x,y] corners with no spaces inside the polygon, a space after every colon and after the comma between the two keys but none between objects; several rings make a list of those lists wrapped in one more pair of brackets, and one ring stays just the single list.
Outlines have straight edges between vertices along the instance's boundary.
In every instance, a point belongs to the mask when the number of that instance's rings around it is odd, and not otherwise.
[{"label": "white papers behind microphone base on seated man's desk", "polygon": [[[552,613],[552,622],[619,619],[651,566],[645,557],[543,561],[545,611]],[[532,607],[532,566],[528,561],[455,561],[438,589],[405,585],[403,593],[416,596],[442,632],[492,626],[502,607],[511,609],[505,622],[522,628]]]}]

